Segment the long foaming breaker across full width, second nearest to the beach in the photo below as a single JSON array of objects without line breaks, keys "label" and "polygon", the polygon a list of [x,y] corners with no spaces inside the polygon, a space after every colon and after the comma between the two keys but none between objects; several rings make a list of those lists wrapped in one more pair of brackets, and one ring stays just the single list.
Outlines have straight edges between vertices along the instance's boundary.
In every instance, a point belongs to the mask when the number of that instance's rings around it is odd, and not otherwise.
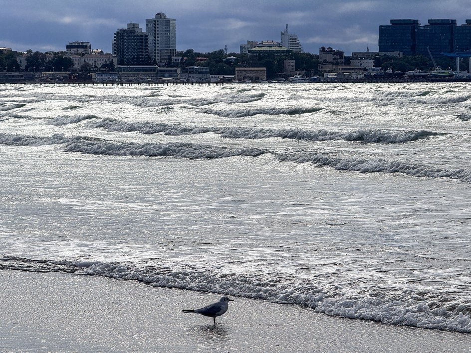
[{"label": "long foaming breaker across full width, second nearest to the beach", "polygon": [[66,144],[65,152],[79,152],[93,155],[108,156],[146,156],[146,157],[177,157],[196,159],[215,159],[227,157],[258,157],[271,154],[279,162],[311,163],[318,167],[329,167],[338,171],[359,173],[401,173],[407,176],[450,178],[471,182],[471,171],[465,169],[433,168],[422,164],[402,161],[386,161],[382,159],[366,160],[358,158],[338,158],[328,154],[292,154],[274,153],[258,148],[230,148],[192,143],[145,143],[108,142],[83,136],[65,137],[62,134],[50,137],[0,134],[0,144],[12,146],[40,146]]}]

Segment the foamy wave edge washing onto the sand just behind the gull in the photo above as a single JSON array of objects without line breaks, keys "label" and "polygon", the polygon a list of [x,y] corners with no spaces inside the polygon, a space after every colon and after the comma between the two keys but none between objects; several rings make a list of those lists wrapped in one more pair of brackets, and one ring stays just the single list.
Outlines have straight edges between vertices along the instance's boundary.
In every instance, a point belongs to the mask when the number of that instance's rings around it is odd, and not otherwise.
[{"label": "foamy wave edge washing onto the sand just behind the gull", "polygon": [[[173,268],[174,267],[174,268]],[[463,299],[427,291],[371,288],[368,293],[336,285],[335,280],[303,279],[292,274],[231,273],[218,266],[211,272],[188,266],[162,266],[97,261],[0,258],[0,269],[67,272],[134,280],[154,287],[179,288],[295,304],[349,319],[471,333],[471,307]]]}]

